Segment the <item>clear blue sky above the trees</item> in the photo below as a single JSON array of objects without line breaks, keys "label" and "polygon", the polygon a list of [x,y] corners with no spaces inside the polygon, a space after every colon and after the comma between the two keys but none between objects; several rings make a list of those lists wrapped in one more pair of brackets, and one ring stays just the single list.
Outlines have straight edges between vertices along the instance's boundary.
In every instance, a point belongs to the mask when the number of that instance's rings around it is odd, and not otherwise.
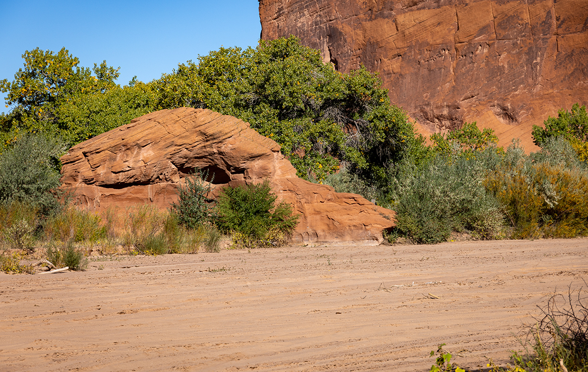
[{"label": "clear blue sky above the trees", "polygon": [[0,0],[0,79],[14,80],[25,51],[65,46],[80,66],[120,67],[121,85],[148,82],[220,46],[255,47],[260,32],[258,0]]}]

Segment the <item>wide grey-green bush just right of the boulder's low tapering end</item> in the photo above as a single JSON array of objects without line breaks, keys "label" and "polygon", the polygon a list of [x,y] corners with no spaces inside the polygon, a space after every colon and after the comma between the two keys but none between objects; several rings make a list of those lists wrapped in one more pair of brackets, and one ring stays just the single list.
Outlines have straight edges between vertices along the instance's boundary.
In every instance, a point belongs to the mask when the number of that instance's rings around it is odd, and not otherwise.
[{"label": "wide grey-green bush just right of the boulder's low tapering end", "polygon": [[417,243],[439,243],[452,231],[469,231],[495,239],[504,226],[496,197],[484,179],[499,155],[489,148],[478,156],[442,153],[417,166],[405,162],[392,169],[390,207],[397,212],[396,231]]}]

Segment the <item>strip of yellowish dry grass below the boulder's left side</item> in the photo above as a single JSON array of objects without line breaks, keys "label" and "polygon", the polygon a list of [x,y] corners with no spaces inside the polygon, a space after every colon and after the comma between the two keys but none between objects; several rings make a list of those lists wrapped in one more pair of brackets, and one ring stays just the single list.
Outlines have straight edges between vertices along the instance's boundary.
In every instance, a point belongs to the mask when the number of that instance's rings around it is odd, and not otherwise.
[{"label": "strip of yellowish dry grass below the boulder's left side", "polygon": [[32,272],[25,257],[47,259],[56,267],[84,270],[92,253],[168,254],[219,252],[221,234],[212,226],[188,229],[178,216],[154,206],[111,208],[102,212],[69,206],[39,220],[22,203],[0,205],[0,270]]}]

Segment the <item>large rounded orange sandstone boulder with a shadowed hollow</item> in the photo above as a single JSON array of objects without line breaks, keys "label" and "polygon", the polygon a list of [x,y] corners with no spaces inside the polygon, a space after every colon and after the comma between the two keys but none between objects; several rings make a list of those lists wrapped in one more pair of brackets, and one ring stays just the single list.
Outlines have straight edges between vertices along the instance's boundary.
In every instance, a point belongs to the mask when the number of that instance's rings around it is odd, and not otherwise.
[{"label": "large rounded orange sandstone boulder with a shadowed hollow", "polygon": [[177,200],[194,169],[215,175],[213,196],[226,185],[268,179],[280,200],[300,214],[295,242],[382,242],[395,226],[392,210],[362,196],[299,179],[280,146],[249,123],[211,110],[161,110],[79,143],[61,158],[62,187],[86,207],[103,209]]}]

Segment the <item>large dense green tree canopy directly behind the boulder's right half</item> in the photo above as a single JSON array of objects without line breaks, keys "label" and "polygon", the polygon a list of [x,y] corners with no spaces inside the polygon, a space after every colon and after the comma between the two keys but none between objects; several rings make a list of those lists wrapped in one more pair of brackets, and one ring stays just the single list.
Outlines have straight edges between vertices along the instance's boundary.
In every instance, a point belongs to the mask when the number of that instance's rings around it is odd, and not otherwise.
[{"label": "large dense green tree canopy directly behind the boulder's right half", "polygon": [[245,51],[220,48],[152,85],[158,109],[209,108],[249,122],[305,178],[322,180],[342,162],[373,175],[420,145],[375,74],[337,72],[293,36]]}]

